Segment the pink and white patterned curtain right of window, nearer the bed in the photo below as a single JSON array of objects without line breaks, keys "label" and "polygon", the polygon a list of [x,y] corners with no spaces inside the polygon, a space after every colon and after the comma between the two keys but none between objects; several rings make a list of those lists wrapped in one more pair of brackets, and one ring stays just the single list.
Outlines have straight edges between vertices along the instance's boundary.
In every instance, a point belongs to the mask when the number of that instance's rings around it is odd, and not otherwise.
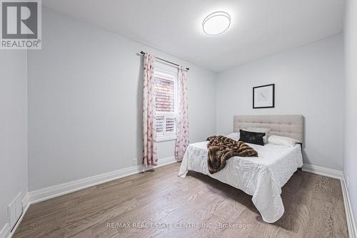
[{"label": "pink and white patterned curtain right of window, nearer the bed", "polygon": [[175,147],[176,160],[182,160],[188,147],[188,105],[187,105],[187,71],[178,69],[178,117],[177,140]]}]

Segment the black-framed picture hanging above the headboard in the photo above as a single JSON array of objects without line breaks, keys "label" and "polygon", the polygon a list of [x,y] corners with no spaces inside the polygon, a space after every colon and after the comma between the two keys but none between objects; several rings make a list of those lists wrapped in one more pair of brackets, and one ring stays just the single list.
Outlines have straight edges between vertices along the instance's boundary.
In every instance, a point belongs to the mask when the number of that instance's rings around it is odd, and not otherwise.
[{"label": "black-framed picture hanging above the headboard", "polygon": [[275,106],[275,84],[253,87],[253,108],[273,108]]}]

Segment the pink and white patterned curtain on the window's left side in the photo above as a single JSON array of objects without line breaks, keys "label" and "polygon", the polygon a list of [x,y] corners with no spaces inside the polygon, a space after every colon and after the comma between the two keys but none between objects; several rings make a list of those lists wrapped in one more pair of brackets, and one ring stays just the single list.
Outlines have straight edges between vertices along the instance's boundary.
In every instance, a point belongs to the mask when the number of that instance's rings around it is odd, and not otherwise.
[{"label": "pink and white patterned curtain on the window's left side", "polygon": [[144,127],[144,166],[157,165],[155,101],[154,101],[154,56],[144,56],[144,95],[143,95],[143,127]]}]

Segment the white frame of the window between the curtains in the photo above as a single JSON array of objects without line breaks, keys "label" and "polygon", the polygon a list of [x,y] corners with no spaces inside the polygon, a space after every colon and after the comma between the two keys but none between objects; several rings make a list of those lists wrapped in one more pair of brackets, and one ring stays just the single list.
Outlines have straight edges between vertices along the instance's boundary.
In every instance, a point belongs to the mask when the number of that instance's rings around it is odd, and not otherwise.
[{"label": "white frame of the window between the curtains", "polygon": [[[156,142],[166,141],[166,140],[176,140],[177,132],[176,127],[174,132],[166,132],[166,118],[175,118],[175,125],[177,126],[177,115],[178,115],[178,85],[177,85],[177,71],[169,71],[164,68],[155,68],[154,69],[154,78],[163,78],[167,81],[174,82],[174,112],[156,112],[155,111],[155,120],[156,117],[164,116],[164,132],[159,134],[156,132]],[[155,92],[154,92],[155,93]],[[155,100],[156,101],[156,100]],[[156,126],[156,125],[155,125]]]}]

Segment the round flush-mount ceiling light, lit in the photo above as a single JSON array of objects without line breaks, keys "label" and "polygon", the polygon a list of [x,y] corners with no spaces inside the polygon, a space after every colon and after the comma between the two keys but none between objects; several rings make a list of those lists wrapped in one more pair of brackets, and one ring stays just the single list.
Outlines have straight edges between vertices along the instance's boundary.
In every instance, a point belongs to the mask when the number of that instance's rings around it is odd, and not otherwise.
[{"label": "round flush-mount ceiling light, lit", "polygon": [[216,11],[206,16],[202,22],[203,32],[208,35],[223,33],[231,25],[231,16],[224,11]]}]

